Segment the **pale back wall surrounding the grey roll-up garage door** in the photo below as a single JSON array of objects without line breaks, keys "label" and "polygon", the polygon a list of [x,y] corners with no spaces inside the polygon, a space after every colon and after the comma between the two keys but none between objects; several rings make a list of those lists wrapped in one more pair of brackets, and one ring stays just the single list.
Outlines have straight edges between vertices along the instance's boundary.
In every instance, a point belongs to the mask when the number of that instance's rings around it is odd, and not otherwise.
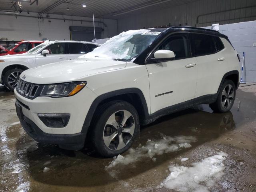
[{"label": "pale back wall surrounding the grey roll-up garage door", "polygon": [[[26,16],[23,17],[22,15]],[[78,16],[62,16],[55,14],[48,14],[50,17],[44,20],[37,18],[37,13],[27,14],[22,12],[15,15],[1,15],[0,14],[0,38],[8,38],[8,41],[20,40],[42,40],[43,38],[49,40],[70,40],[70,26],[86,26],[93,27],[93,22],[70,21],[73,20],[89,20],[92,18],[78,17]],[[27,17],[30,16],[30,17]],[[36,16],[33,18],[31,16]],[[56,20],[53,18],[60,18],[63,20]],[[70,20],[65,20],[70,19]],[[49,22],[50,21],[50,22]],[[97,21],[104,22],[98,23]],[[117,34],[117,21],[113,19],[98,19],[95,18],[95,27],[103,28],[100,38],[109,38]]]}]

